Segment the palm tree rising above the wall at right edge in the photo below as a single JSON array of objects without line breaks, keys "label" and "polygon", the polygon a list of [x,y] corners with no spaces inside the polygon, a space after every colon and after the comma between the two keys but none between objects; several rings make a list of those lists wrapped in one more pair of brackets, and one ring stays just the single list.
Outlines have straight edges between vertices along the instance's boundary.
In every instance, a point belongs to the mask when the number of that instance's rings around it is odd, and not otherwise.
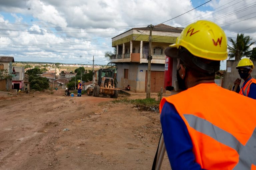
[{"label": "palm tree rising above the wall at right edge", "polygon": [[236,41],[229,37],[228,41],[231,42],[231,46],[228,45],[229,59],[235,58],[235,60],[240,60],[241,57],[249,57],[252,51],[250,46],[255,43],[249,44],[251,40],[250,36],[244,36],[244,34],[237,34]]}]

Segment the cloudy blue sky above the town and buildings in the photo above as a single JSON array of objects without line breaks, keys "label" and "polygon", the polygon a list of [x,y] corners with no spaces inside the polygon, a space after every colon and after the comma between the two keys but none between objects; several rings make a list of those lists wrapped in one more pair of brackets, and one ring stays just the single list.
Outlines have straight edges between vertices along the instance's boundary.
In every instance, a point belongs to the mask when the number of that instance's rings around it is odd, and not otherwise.
[{"label": "cloudy blue sky above the town and buildings", "polygon": [[[181,15],[207,1],[0,0],[0,56],[76,64],[92,64],[94,56],[95,64],[107,64],[104,53],[113,51],[111,38],[165,21],[186,27],[209,20],[220,25],[227,37],[243,33],[256,41],[255,0],[211,0]],[[221,62],[221,69],[225,63]]]}]

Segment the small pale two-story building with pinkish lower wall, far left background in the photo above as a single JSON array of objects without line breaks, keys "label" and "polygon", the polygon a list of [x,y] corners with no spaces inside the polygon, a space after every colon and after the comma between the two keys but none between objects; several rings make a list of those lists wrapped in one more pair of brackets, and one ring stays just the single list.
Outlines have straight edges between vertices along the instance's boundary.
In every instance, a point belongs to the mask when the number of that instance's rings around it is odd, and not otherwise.
[{"label": "small pale two-story building with pinkish lower wall, far left background", "polygon": [[24,89],[25,71],[24,67],[15,67],[15,76],[12,78],[12,89]]}]

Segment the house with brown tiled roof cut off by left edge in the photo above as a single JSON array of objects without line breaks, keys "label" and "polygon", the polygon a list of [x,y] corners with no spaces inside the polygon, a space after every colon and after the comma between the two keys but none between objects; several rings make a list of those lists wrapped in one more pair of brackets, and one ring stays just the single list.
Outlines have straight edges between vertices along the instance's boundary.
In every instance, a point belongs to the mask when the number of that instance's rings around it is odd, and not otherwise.
[{"label": "house with brown tiled roof cut off by left edge", "polygon": [[[14,62],[13,57],[0,56],[0,70],[7,70],[8,74],[12,74],[12,63]],[[12,79],[5,79],[0,75],[0,90],[11,90]]]}]

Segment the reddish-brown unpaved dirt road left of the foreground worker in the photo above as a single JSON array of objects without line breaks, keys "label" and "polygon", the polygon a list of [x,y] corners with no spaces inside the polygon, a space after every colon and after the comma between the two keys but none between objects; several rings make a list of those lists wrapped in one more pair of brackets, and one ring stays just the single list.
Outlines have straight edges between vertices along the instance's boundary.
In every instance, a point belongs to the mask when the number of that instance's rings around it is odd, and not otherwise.
[{"label": "reddish-brown unpaved dirt road left of the foreground worker", "polygon": [[[151,169],[159,113],[63,94],[0,96],[0,170]],[[162,169],[170,169],[167,156]]]}]

